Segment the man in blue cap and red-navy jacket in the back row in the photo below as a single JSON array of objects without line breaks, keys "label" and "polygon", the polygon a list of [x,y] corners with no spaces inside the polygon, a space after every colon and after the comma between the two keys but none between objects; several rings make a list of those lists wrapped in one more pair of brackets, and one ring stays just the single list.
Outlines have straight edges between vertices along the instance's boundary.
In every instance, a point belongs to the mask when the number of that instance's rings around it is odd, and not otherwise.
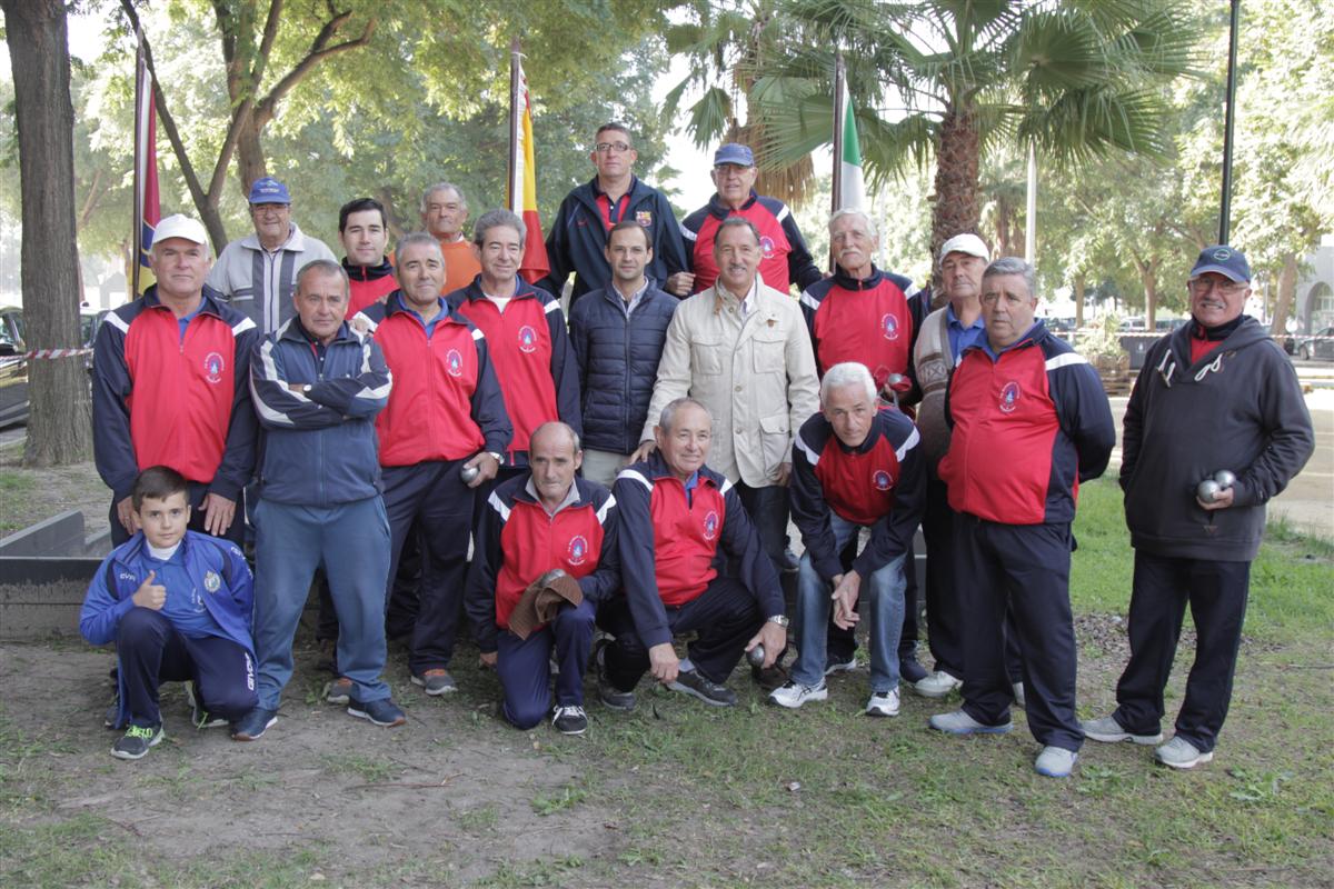
[{"label": "man in blue cap and red-navy jacket in the back row", "polygon": [[714,153],[712,179],[718,193],[682,220],[680,233],[686,239],[690,269],[670,276],[664,291],[690,296],[714,285],[718,280],[714,236],[728,216],[750,220],[759,232],[759,275],[766,285],[787,293],[792,284],[804,291],[820,280],[820,269],[796,228],[792,211],[776,197],[755,193],[758,175],[755,155],[747,145],[727,143]]}]

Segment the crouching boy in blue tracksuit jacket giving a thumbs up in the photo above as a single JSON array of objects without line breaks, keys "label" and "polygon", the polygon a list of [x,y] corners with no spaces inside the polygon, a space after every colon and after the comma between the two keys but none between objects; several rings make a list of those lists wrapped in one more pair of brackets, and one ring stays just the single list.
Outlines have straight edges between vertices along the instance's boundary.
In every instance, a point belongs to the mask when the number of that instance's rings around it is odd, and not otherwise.
[{"label": "crouching boy in blue tracksuit jacket giving a thumbs up", "polygon": [[[119,709],[127,725],[111,754],[141,758],[164,734],[157,686],[192,682],[200,726],[255,706],[253,585],[235,544],[193,530],[187,481],[151,466],[131,494],[139,533],[101,562],[79,614],[93,645],[116,642]],[[205,712],[207,710],[207,712]]]}]

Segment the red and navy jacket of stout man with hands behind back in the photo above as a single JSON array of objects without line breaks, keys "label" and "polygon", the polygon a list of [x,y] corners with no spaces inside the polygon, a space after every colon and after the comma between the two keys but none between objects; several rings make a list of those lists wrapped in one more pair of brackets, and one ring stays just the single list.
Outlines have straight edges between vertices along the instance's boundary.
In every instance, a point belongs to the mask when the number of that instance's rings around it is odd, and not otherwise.
[{"label": "red and navy jacket of stout man with hands behind back", "polygon": [[1007,525],[1073,521],[1079,482],[1103,473],[1117,441],[1098,375],[1042,321],[999,355],[966,349],[944,417],[950,508]]}]

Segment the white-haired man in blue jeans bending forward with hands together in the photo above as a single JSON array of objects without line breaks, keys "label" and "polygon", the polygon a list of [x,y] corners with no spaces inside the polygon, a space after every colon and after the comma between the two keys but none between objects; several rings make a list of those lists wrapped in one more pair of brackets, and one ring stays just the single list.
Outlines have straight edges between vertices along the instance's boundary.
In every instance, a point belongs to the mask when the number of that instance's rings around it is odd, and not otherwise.
[{"label": "white-haired man in blue jeans bending forward with hands together", "polygon": [[[926,501],[916,427],[898,411],[876,411],[876,385],[866,365],[835,364],[820,381],[820,413],[792,445],[792,518],[806,553],[798,576],[798,645],[792,681],[768,700],[798,708],[828,697],[826,626],[832,590],[834,622],[851,629],[866,582],[871,617],[868,716],[899,714],[899,632],[903,628],[904,554]],[[870,542],[844,569],[843,548],[862,528]]]}]

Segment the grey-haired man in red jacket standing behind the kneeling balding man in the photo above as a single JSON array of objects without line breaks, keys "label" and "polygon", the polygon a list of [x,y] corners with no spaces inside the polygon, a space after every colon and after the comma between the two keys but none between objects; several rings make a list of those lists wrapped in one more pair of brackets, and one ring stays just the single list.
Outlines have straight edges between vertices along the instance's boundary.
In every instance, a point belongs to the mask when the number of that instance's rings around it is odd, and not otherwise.
[{"label": "grey-haired man in red jacket standing behind the kneeling balding man", "polygon": [[496,379],[504,393],[514,439],[500,478],[512,478],[528,464],[528,436],[543,423],[559,420],[583,435],[579,412],[579,365],[570,348],[560,300],[519,277],[523,220],[494,209],[478,220],[472,243],[482,255],[482,273],[447,299],[487,337]]}]

